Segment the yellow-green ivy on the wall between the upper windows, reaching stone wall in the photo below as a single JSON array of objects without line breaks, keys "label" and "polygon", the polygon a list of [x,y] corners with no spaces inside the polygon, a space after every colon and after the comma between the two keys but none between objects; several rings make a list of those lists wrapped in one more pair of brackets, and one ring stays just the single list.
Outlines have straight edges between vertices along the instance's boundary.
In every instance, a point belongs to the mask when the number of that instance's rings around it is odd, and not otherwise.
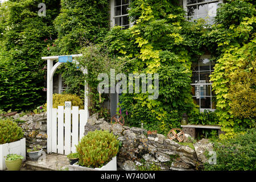
[{"label": "yellow-green ivy on the wall between the upper windows, reaching stone wall", "polygon": [[183,112],[195,108],[190,67],[191,57],[199,51],[196,40],[189,38],[195,27],[175,2],[132,1],[129,13],[135,17],[134,26],[128,30],[114,27],[105,42],[113,55],[130,60],[123,73],[159,73],[159,97],[148,100],[148,93],[122,94],[120,105],[127,110],[130,125],[143,122],[147,129],[167,134],[180,126]]}]

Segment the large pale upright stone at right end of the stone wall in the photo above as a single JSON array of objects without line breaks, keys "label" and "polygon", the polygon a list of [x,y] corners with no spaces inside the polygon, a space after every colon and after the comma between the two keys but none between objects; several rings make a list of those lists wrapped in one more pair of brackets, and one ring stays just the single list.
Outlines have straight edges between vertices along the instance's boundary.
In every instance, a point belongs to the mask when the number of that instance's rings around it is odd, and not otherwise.
[{"label": "large pale upright stone at right end of the stone wall", "polygon": [[204,155],[204,152],[213,151],[213,144],[210,143],[208,139],[203,138],[200,141],[196,142],[194,144],[194,147],[195,147],[197,159],[202,163],[207,162],[208,159]]}]

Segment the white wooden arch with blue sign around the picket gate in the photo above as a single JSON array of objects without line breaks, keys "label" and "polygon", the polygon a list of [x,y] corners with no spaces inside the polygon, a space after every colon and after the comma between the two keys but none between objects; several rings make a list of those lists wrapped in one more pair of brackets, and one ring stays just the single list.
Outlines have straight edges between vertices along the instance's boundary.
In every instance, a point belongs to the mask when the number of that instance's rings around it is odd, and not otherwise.
[{"label": "white wooden arch with blue sign around the picket gate", "polygon": [[[72,63],[79,65],[79,62],[75,60],[76,57],[82,56],[79,55],[68,55],[72,56]],[[54,60],[58,60],[61,56],[48,56],[42,57],[43,60],[47,60],[47,152],[52,152],[52,95],[53,95],[53,75],[56,72],[56,69],[60,67],[60,62],[57,62],[53,65]],[[87,74],[87,69],[80,66],[81,71],[84,74]],[[88,113],[87,118],[89,117],[88,111],[88,86],[85,81],[85,96],[84,96],[84,110]]]}]

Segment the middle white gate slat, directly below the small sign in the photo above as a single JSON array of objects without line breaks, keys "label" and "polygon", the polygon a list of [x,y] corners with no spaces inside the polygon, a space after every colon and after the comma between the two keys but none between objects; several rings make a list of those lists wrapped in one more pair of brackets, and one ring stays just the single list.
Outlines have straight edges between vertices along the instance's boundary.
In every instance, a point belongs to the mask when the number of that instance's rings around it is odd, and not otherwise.
[{"label": "middle white gate slat, directly below the small sign", "polygon": [[64,110],[65,113],[65,155],[71,153],[71,108]]}]

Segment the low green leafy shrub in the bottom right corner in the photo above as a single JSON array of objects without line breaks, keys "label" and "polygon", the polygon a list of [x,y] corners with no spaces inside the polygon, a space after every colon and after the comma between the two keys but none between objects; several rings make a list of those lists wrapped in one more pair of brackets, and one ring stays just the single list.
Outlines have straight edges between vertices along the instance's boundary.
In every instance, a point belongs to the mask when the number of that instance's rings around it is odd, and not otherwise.
[{"label": "low green leafy shrub in the bottom right corner", "polygon": [[256,170],[256,129],[249,129],[233,139],[214,143],[217,164],[205,164],[205,170]]}]

